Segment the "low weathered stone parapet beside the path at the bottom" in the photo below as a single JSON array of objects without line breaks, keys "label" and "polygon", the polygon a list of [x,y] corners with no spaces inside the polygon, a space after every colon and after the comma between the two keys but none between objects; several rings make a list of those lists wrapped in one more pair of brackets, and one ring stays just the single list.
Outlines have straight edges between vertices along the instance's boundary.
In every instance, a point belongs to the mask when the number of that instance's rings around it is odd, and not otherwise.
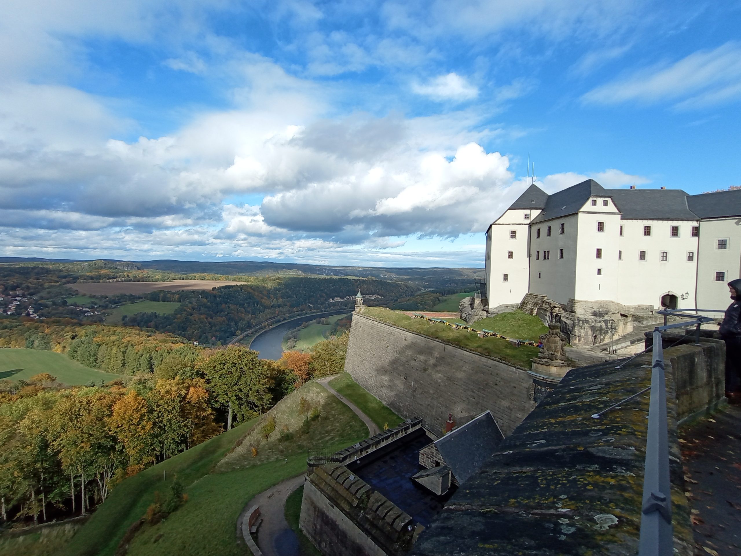
[{"label": "low weathered stone parapet beside the path at the bottom", "polygon": [[339,463],[308,474],[300,526],[324,556],[402,556],[424,529]]}]

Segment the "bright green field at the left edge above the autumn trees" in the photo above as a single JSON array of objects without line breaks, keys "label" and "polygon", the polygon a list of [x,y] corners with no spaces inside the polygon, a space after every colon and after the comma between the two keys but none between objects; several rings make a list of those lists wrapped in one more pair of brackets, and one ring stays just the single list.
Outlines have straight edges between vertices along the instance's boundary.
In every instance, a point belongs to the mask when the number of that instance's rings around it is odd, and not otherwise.
[{"label": "bright green field at the left edge above the autumn trees", "polygon": [[111,374],[89,368],[54,351],[25,348],[0,349],[0,380],[28,380],[34,374],[49,373],[62,384],[84,385],[92,381],[99,385],[101,380],[124,378],[122,374]]}]

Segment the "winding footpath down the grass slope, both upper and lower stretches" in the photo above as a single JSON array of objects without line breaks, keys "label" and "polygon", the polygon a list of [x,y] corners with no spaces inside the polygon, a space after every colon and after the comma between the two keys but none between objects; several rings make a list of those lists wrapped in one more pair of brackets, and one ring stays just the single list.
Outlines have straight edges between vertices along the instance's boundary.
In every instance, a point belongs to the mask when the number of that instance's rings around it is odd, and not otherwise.
[{"label": "winding footpath down the grass slope, both upper and lower stretches", "polygon": [[[368,436],[378,434],[380,429],[376,426],[376,423],[373,423],[368,415],[360,411],[355,404],[329,385],[329,381],[333,378],[333,376],[324,377],[316,382],[327,388],[331,394],[360,417],[365,426],[368,427]],[[249,519],[247,508],[260,507],[262,524],[259,527],[256,544],[264,556],[304,556],[296,533],[293,532],[293,529],[290,529],[288,521],[285,520],[285,501],[291,492],[302,486],[304,479],[304,474],[292,477],[261,492],[250,500],[250,503],[245,506],[245,511],[239,517],[239,529],[242,530],[242,535],[246,541],[247,537],[250,536],[250,527],[247,524]]]}]

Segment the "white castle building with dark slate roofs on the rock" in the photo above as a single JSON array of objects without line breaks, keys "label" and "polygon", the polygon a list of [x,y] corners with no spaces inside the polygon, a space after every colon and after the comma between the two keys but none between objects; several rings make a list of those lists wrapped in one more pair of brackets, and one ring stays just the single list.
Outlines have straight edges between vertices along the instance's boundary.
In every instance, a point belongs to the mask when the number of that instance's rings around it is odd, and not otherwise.
[{"label": "white castle building with dark slate roofs on the rock", "polygon": [[726,282],[740,276],[741,190],[605,189],[588,179],[548,195],[531,185],[486,231],[491,308],[530,292],[560,304],[725,309]]}]

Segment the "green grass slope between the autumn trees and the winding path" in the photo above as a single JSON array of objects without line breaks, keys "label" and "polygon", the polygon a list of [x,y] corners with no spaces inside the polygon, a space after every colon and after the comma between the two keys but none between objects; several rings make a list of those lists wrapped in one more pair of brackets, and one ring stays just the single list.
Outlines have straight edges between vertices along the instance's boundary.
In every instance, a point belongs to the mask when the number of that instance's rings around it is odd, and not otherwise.
[{"label": "green grass slope between the autumn trees and the winding path", "polygon": [[[265,440],[264,427],[271,420],[276,426]],[[367,436],[368,429],[350,408],[321,385],[307,383],[258,419],[124,480],[63,554],[113,555],[155,492],[165,495],[177,474],[187,502],[161,523],[145,525],[127,555],[245,555],[236,522],[256,494],[305,472],[308,448],[339,449]]]}]

